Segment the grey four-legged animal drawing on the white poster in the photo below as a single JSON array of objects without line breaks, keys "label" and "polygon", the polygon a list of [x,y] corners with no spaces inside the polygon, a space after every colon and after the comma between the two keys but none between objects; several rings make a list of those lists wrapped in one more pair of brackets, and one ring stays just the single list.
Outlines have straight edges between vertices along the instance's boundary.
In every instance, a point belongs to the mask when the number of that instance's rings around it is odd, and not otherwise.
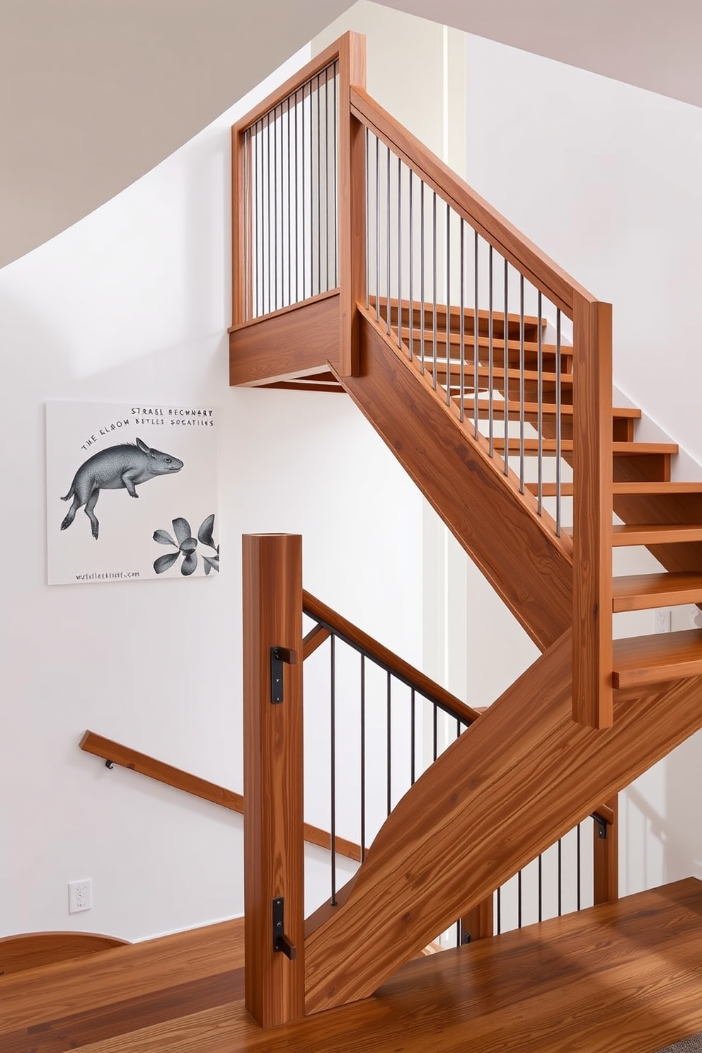
[{"label": "grey four-legged animal drawing on the white poster", "polygon": [[85,505],[85,515],[91,520],[93,537],[97,540],[100,523],[95,514],[95,505],[101,490],[126,490],[129,497],[139,497],[136,488],[158,475],[180,472],[183,462],[171,454],[153,450],[141,439],[136,445],[131,442],[108,446],[88,457],[78,469],[71,483],[71,490],[62,501],[73,497],[73,503],[61,523],[67,530],[79,509]]}]

